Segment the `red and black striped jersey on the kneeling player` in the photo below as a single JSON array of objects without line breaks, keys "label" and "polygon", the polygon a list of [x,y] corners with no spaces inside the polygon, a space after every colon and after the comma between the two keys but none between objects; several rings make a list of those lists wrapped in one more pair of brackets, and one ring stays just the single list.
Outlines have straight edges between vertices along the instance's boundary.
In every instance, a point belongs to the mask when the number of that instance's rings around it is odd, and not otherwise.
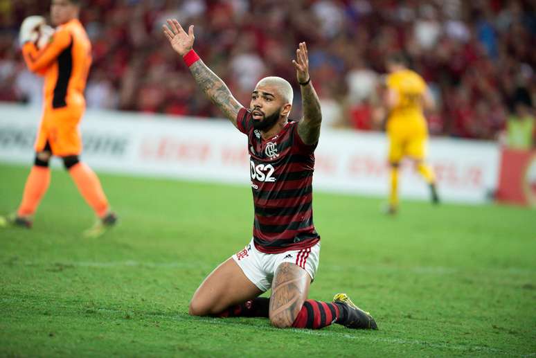
[{"label": "red and black striped jersey on the kneeling player", "polygon": [[253,128],[251,112],[242,108],[237,125],[248,136],[255,219],[253,242],[259,251],[280,253],[305,249],[319,242],[312,215],[312,175],[316,145],[298,135],[290,121],[265,140]]}]

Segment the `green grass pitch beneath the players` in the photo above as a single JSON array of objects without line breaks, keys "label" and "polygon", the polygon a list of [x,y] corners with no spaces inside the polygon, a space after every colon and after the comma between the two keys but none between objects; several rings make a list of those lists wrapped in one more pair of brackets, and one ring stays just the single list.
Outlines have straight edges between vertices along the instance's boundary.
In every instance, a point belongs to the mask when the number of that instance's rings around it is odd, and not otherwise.
[{"label": "green grass pitch beneath the players", "polygon": [[[28,167],[0,165],[0,212]],[[244,173],[247,174],[247,173]],[[251,238],[251,189],[101,174],[120,225],[93,214],[63,170],[32,230],[0,231],[0,356],[468,357],[536,355],[536,212],[316,193],[322,236],[310,298],[346,292],[379,331],[278,330],[188,316],[202,279]]]}]

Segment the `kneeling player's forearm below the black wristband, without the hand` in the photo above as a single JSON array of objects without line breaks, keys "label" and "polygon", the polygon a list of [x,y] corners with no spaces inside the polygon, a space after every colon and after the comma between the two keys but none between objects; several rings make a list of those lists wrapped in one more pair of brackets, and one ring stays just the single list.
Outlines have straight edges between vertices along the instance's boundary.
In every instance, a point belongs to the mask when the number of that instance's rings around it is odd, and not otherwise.
[{"label": "kneeling player's forearm below the black wristband, without the hand", "polygon": [[320,111],[319,96],[316,95],[311,82],[305,86],[301,86],[301,102],[303,120],[298,125],[298,134],[303,143],[314,144],[320,138],[322,114]]}]

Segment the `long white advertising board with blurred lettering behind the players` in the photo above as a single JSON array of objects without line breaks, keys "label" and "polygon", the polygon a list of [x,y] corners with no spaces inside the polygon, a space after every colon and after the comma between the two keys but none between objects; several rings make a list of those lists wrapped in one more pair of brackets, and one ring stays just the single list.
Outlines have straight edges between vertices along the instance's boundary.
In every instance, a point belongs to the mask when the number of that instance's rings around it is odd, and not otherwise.
[{"label": "long white advertising board with blurred lettering behind the players", "polygon": [[[35,107],[0,105],[0,161],[30,165],[40,116]],[[81,131],[82,160],[96,170],[249,184],[247,137],[226,120],[87,111]],[[386,152],[382,133],[323,129],[314,187],[386,195]],[[495,143],[431,138],[429,163],[446,201],[485,202],[497,187],[499,147]],[[429,195],[409,162],[402,165],[400,190],[402,197]]]}]

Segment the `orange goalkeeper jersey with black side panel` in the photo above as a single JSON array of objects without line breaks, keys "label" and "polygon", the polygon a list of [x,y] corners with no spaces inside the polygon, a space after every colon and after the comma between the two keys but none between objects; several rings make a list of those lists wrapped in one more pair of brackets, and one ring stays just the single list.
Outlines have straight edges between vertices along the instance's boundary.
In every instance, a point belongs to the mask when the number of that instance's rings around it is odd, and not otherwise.
[{"label": "orange goalkeeper jersey with black side panel", "polygon": [[84,106],[84,89],[91,66],[91,43],[78,19],[58,26],[41,50],[33,42],[22,48],[28,69],[44,75],[44,107]]}]

